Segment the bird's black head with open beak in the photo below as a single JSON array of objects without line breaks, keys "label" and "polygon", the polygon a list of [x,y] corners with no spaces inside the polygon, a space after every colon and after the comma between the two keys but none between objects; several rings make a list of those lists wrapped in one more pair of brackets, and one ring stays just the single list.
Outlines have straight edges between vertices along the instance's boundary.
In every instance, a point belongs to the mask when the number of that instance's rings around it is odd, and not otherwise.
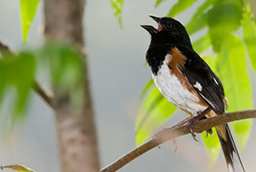
[{"label": "bird's black head with open beak", "polygon": [[185,27],[178,20],[172,18],[150,17],[158,24],[158,29],[150,25],[141,25],[151,34],[152,43],[191,46],[191,41]]}]

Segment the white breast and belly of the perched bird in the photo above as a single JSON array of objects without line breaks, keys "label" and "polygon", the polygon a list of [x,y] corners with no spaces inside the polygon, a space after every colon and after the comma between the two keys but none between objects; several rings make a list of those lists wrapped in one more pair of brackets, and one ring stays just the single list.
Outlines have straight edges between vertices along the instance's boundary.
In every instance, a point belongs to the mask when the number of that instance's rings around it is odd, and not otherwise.
[{"label": "white breast and belly of the perched bird", "polygon": [[199,104],[199,99],[182,86],[179,78],[171,74],[168,68],[169,60],[171,60],[171,56],[167,55],[157,74],[152,73],[155,86],[168,101],[182,110],[194,115],[206,110],[208,107]]}]

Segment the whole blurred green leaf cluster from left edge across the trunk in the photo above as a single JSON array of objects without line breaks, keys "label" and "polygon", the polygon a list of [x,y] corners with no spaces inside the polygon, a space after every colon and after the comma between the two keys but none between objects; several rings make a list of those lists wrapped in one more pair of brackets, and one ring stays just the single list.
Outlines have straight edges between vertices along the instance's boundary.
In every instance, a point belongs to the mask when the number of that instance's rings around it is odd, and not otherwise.
[{"label": "whole blurred green leaf cluster from left edge across the trunk", "polygon": [[7,94],[14,90],[15,99],[10,104],[12,112],[9,112],[12,122],[24,119],[36,73],[48,66],[48,83],[61,99],[70,98],[68,100],[72,108],[79,109],[85,91],[82,58],[77,48],[61,43],[47,43],[40,48],[23,50],[18,54],[3,53],[0,59],[0,106],[4,106],[4,98],[7,99]]}]

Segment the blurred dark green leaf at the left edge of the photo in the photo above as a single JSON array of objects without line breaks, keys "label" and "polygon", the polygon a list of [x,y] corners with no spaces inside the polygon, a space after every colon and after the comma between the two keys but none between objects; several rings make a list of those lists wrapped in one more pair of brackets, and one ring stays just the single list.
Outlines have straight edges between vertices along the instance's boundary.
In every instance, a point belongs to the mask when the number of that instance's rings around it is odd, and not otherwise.
[{"label": "blurred dark green leaf at the left edge of the photo", "polygon": [[[35,60],[30,52],[19,55],[7,55],[0,60],[0,99],[9,88],[15,90],[15,101],[12,104],[12,122],[24,118],[31,87],[34,83]],[[2,103],[2,101],[1,101]]]}]

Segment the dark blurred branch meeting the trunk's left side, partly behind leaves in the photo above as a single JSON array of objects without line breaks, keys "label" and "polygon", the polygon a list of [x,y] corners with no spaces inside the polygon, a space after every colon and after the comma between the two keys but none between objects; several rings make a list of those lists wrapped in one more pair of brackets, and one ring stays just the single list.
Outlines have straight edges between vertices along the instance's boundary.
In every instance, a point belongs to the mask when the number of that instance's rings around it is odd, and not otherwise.
[{"label": "dark blurred branch meeting the trunk's left side, partly behind leaves", "polygon": [[[1,40],[0,40],[0,52],[2,54],[14,54],[11,51],[11,49],[7,45],[5,45]],[[34,81],[33,89],[34,89],[35,92],[37,92],[38,95],[40,95],[40,97],[42,99],[44,99],[47,102],[47,104],[51,108],[54,108],[54,104],[53,104],[54,96],[53,96],[53,94],[51,92],[45,90],[36,81]]]}]

